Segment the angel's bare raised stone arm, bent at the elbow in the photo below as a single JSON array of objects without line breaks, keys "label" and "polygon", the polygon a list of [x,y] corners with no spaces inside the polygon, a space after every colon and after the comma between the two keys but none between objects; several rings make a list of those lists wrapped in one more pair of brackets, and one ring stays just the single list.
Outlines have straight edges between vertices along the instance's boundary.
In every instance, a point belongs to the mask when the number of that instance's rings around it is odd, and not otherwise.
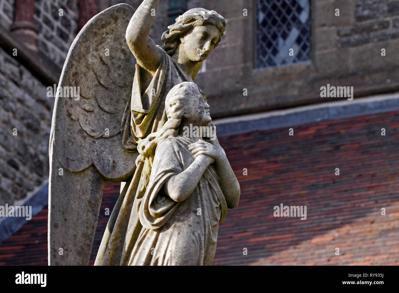
[{"label": "angel's bare raised stone arm, bent at the elbow", "polygon": [[126,41],[138,65],[152,74],[161,63],[161,53],[148,36],[158,4],[159,0],[144,0],[126,29]]}]

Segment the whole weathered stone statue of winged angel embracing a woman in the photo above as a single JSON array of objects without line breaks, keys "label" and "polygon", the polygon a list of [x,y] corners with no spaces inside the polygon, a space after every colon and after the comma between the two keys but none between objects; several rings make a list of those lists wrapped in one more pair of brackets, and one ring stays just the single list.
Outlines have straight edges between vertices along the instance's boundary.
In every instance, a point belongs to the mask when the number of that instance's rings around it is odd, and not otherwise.
[{"label": "whole weathered stone statue of winged angel embracing a woman", "polygon": [[[95,265],[211,264],[218,223],[238,204],[239,184],[217,139],[180,136],[188,121],[213,126],[201,108],[206,94],[193,81],[226,22],[215,11],[191,9],[168,26],[161,47],[148,36],[158,3],[104,10],[69,49],[49,145],[49,265],[89,264],[109,182],[126,184]],[[65,87],[79,87],[80,96],[63,96]],[[204,180],[212,190],[200,193]],[[195,215],[201,208],[202,224],[188,224],[194,215],[184,206],[195,207]],[[187,238],[176,235],[179,229]],[[177,257],[182,249],[186,260]]]}]

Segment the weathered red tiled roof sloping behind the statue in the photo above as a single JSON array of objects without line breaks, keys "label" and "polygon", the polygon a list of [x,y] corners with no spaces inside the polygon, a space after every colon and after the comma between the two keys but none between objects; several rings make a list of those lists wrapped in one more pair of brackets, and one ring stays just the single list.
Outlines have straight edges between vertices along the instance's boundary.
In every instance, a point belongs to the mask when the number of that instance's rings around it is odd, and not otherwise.
[{"label": "weathered red tiled roof sloping behind the statue", "polygon": [[[220,138],[241,199],[219,226],[213,264],[398,265],[398,120],[395,111],[295,126],[294,136]],[[91,264],[118,195],[118,184],[106,186]],[[274,217],[280,203],[306,205],[307,219]],[[47,264],[47,209],[0,244],[0,265],[18,264]]]}]

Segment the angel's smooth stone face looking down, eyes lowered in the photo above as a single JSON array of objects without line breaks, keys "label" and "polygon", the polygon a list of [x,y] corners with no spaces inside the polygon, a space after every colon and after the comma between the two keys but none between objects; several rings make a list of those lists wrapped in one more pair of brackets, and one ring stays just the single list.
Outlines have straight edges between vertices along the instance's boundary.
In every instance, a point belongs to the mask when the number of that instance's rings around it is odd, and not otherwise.
[{"label": "angel's smooth stone face looking down, eyes lowered", "polygon": [[220,31],[210,24],[195,26],[190,33],[180,39],[179,50],[191,61],[204,61],[219,40]]}]

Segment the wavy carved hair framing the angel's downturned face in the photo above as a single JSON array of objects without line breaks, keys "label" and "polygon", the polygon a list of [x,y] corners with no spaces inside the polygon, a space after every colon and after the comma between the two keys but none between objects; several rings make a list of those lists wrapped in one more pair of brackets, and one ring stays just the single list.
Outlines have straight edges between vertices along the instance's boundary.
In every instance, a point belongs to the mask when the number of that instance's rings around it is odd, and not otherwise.
[{"label": "wavy carved hair framing the angel's downturned face", "polygon": [[203,26],[205,24],[211,24],[219,29],[219,39],[215,44],[215,47],[217,47],[226,30],[225,19],[213,10],[193,8],[184,12],[184,14],[176,18],[174,24],[168,26],[168,30],[162,34],[162,42],[164,42],[162,49],[164,49],[169,56],[174,55],[176,48],[180,44],[180,37],[184,36],[195,26]]}]

